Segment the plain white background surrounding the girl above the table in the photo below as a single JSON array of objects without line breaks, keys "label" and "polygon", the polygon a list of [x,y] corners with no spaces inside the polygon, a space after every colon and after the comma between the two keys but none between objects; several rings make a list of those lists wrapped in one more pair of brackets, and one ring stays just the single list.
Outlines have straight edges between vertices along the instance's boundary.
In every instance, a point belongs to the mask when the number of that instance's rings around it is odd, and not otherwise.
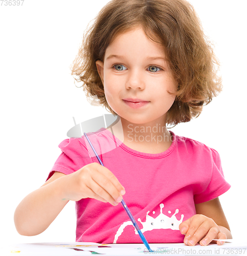
[{"label": "plain white background surrounding the girl above the table", "polygon": [[[0,6],[1,243],[76,239],[74,202],[35,237],[20,236],[13,215],[18,203],[45,182],[61,152],[58,144],[74,125],[72,117],[81,122],[108,113],[87,102],[69,70],[83,31],[107,2],[25,0],[22,6]],[[190,2],[214,42],[224,91],[199,118],[171,131],[219,152],[232,185],[220,201],[233,238],[246,241],[247,5],[245,0]]]}]

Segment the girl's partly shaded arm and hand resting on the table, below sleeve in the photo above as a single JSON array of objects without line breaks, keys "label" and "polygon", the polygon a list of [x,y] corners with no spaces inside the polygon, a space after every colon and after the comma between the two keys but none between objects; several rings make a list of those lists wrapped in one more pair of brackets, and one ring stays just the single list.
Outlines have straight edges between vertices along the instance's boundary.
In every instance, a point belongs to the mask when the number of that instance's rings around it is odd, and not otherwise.
[{"label": "girl's partly shaded arm and hand resting on the table, below sleeve", "polygon": [[[195,204],[196,215],[179,225],[182,234],[185,234],[184,243],[195,245],[208,245],[213,239],[232,239],[224,211],[219,199]],[[218,245],[224,242],[217,241]]]}]

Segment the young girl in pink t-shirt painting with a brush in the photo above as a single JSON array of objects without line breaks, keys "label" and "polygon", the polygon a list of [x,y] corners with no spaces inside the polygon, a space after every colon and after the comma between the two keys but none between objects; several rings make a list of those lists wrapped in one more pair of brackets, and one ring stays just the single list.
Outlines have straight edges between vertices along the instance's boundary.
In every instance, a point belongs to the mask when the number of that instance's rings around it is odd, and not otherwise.
[{"label": "young girl in pink t-shirt painting with a brush", "polygon": [[17,206],[17,231],[43,232],[72,200],[78,242],[141,243],[119,204],[125,195],[149,243],[232,238],[218,199],[230,188],[218,153],[167,130],[220,92],[215,63],[186,1],[109,2],[72,66],[87,96],[118,117],[88,134],[106,167],[84,136],[62,141],[47,181]]}]

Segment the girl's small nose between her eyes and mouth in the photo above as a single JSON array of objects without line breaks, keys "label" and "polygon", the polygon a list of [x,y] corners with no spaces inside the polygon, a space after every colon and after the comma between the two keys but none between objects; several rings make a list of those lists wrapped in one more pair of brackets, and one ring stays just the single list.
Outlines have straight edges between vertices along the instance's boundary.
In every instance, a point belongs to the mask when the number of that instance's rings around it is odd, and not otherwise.
[{"label": "girl's small nose between her eyes and mouth", "polygon": [[145,89],[144,83],[144,74],[141,73],[138,69],[132,70],[128,74],[128,78],[126,81],[126,88],[127,89]]}]

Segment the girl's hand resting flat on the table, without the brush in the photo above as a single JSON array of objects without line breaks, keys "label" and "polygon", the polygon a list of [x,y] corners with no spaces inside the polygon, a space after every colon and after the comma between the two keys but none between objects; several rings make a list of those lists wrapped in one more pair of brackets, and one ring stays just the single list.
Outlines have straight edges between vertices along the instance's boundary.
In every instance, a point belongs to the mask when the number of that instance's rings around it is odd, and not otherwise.
[{"label": "girl's hand resting flat on the table, without the brush", "polygon": [[[201,214],[196,214],[179,225],[179,230],[185,234],[185,245],[193,246],[200,241],[200,245],[208,245],[213,239],[227,239],[225,233],[221,232],[219,226]],[[217,241],[218,245],[225,242]]]}]

